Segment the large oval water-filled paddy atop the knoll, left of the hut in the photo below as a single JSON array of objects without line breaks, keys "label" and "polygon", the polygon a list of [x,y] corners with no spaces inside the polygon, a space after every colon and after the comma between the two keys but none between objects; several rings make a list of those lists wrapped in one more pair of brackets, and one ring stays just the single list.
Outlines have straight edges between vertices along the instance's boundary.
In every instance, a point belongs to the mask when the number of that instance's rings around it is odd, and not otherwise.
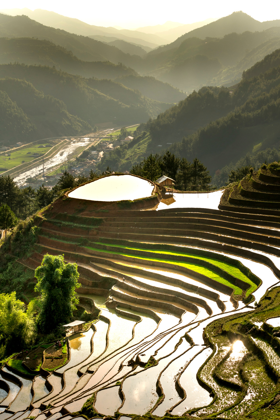
[{"label": "large oval water-filled paddy atop the knoll, left of the hut", "polygon": [[68,197],[92,201],[135,200],[152,195],[154,185],[133,175],[112,175],[82,185]]}]

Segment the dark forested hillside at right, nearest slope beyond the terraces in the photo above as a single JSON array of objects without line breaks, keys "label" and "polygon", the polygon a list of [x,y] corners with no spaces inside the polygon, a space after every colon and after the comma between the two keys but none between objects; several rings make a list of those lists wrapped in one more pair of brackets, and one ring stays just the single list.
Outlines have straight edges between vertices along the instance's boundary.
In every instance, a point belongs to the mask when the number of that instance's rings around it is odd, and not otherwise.
[{"label": "dark forested hillside at right, nearest slope beyond the terraces", "polygon": [[[198,157],[213,175],[225,165],[234,166],[246,154],[276,148],[280,144],[279,50],[256,63],[229,95],[228,89],[204,87],[156,119],[140,126],[145,136],[128,144],[132,163],[165,148],[188,160]],[[214,116],[214,113],[216,114]],[[201,128],[199,128],[199,125]],[[196,130],[196,131],[195,131]],[[180,139],[180,141],[178,141]],[[173,143],[173,144],[171,144]]]}]

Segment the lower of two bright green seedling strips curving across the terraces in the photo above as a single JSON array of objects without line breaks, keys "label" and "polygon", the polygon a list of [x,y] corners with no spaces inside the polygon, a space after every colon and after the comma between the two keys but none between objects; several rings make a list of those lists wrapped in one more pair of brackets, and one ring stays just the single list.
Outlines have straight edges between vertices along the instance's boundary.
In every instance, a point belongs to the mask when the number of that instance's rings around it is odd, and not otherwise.
[{"label": "lower of two bright green seedling strips curving across the terraces", "polygon": [[[162,258],[160,259],[160,258],[152,258],[152,257],[150,257],[150,258],[139,257],[137,255],[125,254],[123,252],[116,252],[116,251],[107,251],[106,249],[98,249],[98,248],[93,248],[93,247],[84,247],[84,248],[92,249],[93,251],[106,252],[108,254],[123,255],[124,257],[138,258],[139,260],[154,261],[154,262],[166,262],[167,264],[176,264],[180,267],[189,268],[190,270],[193,270],[196,273],[203,274],[204,276],[212,278],[212,280],[218,281],[219,283],[222,283],[225,286],[230,287],[231,289],[234,290],[235,294],[240,295],[242,293],[242,290],[241,290],[240,287],[236,286],[233,283],[230,283],[230,281],[226,280],[225,278],[221,277],[219,274],[215,273],[214,270],[210,270],[209,268],[203,267],[202,265],[194,264],[192,262],[181,262],[181,261],[176,261],[176,260],[164,260]],[[256,288],[255,284],[254,284],[254,286]]]}]

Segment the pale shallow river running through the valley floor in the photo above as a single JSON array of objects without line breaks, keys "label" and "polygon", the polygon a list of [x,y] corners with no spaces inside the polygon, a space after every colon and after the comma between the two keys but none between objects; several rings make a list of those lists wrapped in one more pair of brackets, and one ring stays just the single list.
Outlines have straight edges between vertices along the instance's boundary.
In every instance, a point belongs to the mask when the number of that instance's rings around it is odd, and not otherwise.
[{"label": "pale shallow river running through the valley floor", "polygon": [[[74,140],[69,141],[68,144],[66,144],[63,149],[61,149],[55,156],[50,157],[50,159],[46,158],[44,160],[44,171],[51,171],[52,168],[54,168],[57,165],[61,165],[65,162],[65,159],[68,160],[71,158],[71,155],[75,152],[78,147],[83,147],[89,144],[90,139],[89,137],[84,137],[81,140]],[[22,172],[20,175],[16,176],[14,178],[14,181],[18,185],[23,185],[26,182],[27,178],[43,175],[43,165],[42,162],[38,163],[35,168],[29,169],[28,171]]]}]

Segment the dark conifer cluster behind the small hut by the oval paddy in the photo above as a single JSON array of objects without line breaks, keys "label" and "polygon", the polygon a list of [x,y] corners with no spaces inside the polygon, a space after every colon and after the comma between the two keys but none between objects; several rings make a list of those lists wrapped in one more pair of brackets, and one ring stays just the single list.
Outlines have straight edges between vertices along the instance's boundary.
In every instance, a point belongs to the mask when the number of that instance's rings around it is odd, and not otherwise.
[{"label": "dark conifer cluster behind the small hut by the oval paddy", "polygon": [[163,156],[149,155],[138,165],[131,168],[130,173],[156,181],[162,175],[172,178],[176,188],[183,191],[203,191],[211,182],[207,168],[197,158],[189,162],[185,157],[175,157],[169,150]]}]

